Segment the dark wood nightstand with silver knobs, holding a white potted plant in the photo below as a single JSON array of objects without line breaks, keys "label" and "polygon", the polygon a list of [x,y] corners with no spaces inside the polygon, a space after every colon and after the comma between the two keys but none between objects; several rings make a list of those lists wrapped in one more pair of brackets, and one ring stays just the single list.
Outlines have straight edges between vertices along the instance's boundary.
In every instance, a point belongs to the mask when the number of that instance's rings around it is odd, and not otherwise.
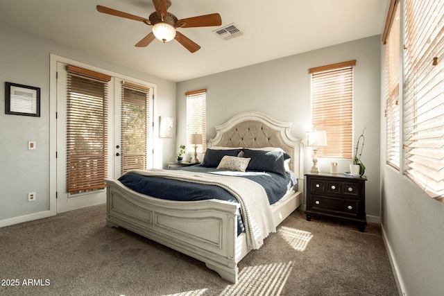
[{"label": "dark wood nightstand with silver knobs, holding a white potted plant", "polygon": [[343,174],[305,174],[307,190],[307,221],[311,215],[350,220],[364,232],[366,218],[367,177],[350,177]]}]

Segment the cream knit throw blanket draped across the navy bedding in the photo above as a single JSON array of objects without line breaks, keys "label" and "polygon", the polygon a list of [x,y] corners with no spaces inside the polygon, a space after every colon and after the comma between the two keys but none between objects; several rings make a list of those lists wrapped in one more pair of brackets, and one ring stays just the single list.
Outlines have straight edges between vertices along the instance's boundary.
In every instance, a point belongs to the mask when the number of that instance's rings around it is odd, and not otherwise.
[{"label": "cream knit throw blanket draped across the navy bedding", "polygon": [[208,173],[189,171],[170,171],[153,168],[146,171],[130,171],[148,177],[164,177],[197,184],[219,186],[231,193],[241,206],[247,245],[259,249],[264,244],[264,238],[271,232],[276,232],[276,225],[271,213],[270,203],[264,188],[254,181],[241,177],[219,176]]}]

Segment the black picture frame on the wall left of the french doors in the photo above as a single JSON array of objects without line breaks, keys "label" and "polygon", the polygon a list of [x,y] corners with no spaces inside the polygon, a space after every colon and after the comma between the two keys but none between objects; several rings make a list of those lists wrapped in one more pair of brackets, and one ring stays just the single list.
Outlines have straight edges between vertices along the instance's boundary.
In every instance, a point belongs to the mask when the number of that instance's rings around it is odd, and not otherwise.
[{"label": "black picture frame on the wall left of the french doors", "polygon": [[40,117],[40,87],[6,82],[6,114]]}]

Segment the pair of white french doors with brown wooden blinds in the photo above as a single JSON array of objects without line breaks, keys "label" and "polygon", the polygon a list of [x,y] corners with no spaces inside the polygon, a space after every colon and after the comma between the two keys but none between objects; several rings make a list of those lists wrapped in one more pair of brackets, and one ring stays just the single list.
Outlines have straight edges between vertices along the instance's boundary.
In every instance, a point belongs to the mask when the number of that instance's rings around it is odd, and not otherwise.
[{"label": "pair of white french doors with brown wooden blinds", "polygon": [[[56,175],[60,213],[105,202],[103,179],[118,178],[128,169],[152,167],[153,89],[110,76],[105,82],[108,103],[101,104],[101,98],[92,90],[94,83],[91,86],[83,85],[81,80],[78,84],[71,81],[67,64],[62,62],[58,62],[57,70]],[[76,105],[73,96],[80,103]],[[73,112],[76,106],[80,109]],[[103,116],[97,112],[98,107],[103,108]]]}]

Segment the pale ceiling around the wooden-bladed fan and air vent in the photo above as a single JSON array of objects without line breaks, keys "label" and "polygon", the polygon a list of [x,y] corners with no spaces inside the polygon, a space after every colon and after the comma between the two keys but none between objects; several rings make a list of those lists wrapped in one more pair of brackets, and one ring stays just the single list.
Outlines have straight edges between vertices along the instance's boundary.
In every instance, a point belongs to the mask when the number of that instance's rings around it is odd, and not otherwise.
[{"label": "pale ceiling around the wooden-bladed fan and air vent", "polygon": [[[171,0],[178,19],[219,12],[243,35],[225,41],[218,27],[178,28],[201,46],[176,40],[135,44],[151,26],[97,12],[106,6],[146,17],[151,0],[0,0],[0,23],[66,44],[142,73],[179,82],[382,33],[389,0]],[[260,5],[259,5],[260,3]]]}]

